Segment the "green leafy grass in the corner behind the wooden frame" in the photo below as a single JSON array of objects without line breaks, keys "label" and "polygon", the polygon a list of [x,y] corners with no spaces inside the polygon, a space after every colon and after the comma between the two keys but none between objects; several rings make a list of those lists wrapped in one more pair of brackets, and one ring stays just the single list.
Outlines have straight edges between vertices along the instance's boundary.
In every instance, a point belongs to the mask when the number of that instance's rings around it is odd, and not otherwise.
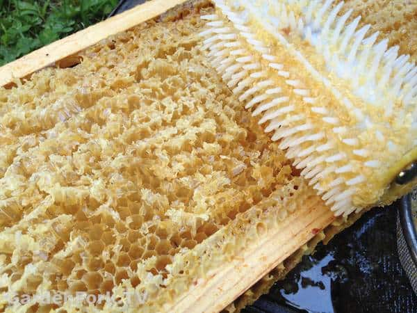
[{"label": "green leafy grass in the corner behind the wooden frame", "polygon": [[107,17],[117,0],[0,0],[0,66]]}]

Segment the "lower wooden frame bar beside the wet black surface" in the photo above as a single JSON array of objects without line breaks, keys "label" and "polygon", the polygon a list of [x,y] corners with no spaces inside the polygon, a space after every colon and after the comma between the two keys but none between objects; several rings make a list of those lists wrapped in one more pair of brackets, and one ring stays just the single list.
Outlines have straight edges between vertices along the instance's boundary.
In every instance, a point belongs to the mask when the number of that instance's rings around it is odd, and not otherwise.
[{"label": "lower wooden frame bar beside the wet black surface", "polygon": [[316,204],[287,216],[276,230],[267,232],[254,245],[248,246],[241,257],[209,272],[206,279],[191,286],[182,298],[164,307],[165,312],[215,313],[223,310],[332,223],[333,212]]}]

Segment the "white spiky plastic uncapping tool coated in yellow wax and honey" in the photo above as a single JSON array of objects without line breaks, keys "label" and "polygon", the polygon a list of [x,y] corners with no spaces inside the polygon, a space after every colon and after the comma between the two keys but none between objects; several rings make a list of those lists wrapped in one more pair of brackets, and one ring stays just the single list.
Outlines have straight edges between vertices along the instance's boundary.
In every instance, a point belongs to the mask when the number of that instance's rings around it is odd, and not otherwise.
[{"label": "white spiky plastic uncapping tool coated in yellow wax and honey", "polygon": [[417,67],[343,2],[215,0],[202,49],[336,216],[395,200],[417,159]]}]

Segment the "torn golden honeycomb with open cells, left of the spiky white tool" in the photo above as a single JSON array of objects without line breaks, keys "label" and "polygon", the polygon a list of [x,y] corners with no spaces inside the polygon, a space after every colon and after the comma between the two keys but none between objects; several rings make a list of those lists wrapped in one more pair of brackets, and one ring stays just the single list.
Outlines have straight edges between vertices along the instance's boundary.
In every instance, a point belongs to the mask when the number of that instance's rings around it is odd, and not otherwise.
[{"label": "torn golden honeycomb with open cells, left of the spiky white tool", "polygon": [[0,89],[0,312],[161,310],[195,251],[313,197],[200,51],[211,10],[188,4]]}]

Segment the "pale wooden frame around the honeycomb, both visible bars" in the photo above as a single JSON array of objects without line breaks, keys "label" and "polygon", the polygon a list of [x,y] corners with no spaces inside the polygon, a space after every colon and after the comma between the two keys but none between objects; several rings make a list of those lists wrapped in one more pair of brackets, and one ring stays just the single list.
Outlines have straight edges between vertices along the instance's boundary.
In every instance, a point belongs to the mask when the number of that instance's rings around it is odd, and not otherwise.
[{"label": "pale wooden frame around the honeycomb, both visible bars", "polygon": [[[120,15],[58,40],[31,52],[17,61],[0,67],[0,86],[15,79],[28,77],[44,67],[73,56],[109,35],[165,13],[186,0],[152,0]],[[301,208],[280,225],[279,230],[265,234],[256,245],[247,248],[242,258],[218,268],[215,275],[190,290],[177,302],[168,305],[170,312],[218,312],[271,271],[279,263],[309,241],[318,230],[323,230],[334,220],[332,212],[323,206]],[[213,273],[212,273],[213,274]]]}]

